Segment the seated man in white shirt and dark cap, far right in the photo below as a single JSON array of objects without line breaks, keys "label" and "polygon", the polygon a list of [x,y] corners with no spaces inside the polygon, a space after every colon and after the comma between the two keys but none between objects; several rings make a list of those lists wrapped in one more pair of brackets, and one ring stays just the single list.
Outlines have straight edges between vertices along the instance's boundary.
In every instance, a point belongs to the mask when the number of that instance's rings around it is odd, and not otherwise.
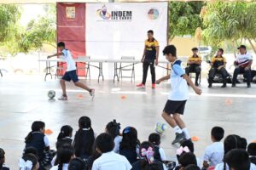
[{"label": "seated man in white shirt and dark cap, far right", "polygon": [[232,88],[236,87],[237,76],[240,73],[245,73],[245,77],[247,78],[247,88],[251,88],[251,66],[253,64],[253,56],[247,53],[247,47],[245,45],[241,45],[238,49],[240,54],[236,56],[236,61],[234,63],[236,69],[233,74]]}]

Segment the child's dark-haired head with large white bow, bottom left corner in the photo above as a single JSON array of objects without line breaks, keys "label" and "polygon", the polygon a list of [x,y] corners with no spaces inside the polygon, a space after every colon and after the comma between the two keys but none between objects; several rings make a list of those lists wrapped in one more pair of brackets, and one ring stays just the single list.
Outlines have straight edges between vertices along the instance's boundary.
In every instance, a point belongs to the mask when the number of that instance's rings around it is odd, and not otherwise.
[{"label": "child's dark-haired head with large white bow, bottom left corner", "polygon": [[20,170],[38,170],[38,158],[33,154],[26,154],[20,159],[19,166]]}]

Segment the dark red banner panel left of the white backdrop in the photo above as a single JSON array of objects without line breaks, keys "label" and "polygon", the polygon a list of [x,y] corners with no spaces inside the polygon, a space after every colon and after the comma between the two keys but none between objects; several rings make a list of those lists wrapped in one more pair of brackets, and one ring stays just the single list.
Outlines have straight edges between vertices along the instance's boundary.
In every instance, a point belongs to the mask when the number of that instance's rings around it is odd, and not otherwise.
[{"label": "dark red banner panel left of the white backdrop", "polygon": [[[57,40],[66,43],[74,59],[85,56],[85,3],[57,3]],[[84,76],[85,69],[78,70],[78,74]]]}]

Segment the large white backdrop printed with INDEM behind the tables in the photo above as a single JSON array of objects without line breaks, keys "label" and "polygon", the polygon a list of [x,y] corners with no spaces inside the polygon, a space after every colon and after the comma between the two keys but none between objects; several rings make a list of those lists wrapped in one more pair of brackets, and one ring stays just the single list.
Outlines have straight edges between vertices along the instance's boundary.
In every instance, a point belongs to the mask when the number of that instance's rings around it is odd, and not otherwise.
[{"label": "large white backdrop printed with INDEM behind the tables", "polygon": [[[120,59],[121,56],[141,59],[147,31],[153,30],[155,39],[160,43],[161,57],[161,51],[167,43],[167,7],[166,2],[86,3],[86,55],[93,59]],[[128,11],[131,17],[126,17],[127,20],[113,20],[113,11],[125,15],[124,11]],[[149,11],[154,11],[153,18],[150,18]],[[104,75],[106,78],[112,78],[112,65],[105,65],[104,72],[108,72]],[[141,75],[142,71],[136,72],[137,77]]]}]

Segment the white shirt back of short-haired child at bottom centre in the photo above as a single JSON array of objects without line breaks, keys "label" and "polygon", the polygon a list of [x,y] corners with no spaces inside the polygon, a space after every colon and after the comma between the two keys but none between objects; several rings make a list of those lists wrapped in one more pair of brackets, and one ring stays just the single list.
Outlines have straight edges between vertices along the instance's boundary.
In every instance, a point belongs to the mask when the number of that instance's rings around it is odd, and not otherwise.
[{"label": "white shirt back of short-haired child at bottom centre", "polygon": [[131,164],[125,156],[110,151],[93,162],[92,170],[131,170]]}]

